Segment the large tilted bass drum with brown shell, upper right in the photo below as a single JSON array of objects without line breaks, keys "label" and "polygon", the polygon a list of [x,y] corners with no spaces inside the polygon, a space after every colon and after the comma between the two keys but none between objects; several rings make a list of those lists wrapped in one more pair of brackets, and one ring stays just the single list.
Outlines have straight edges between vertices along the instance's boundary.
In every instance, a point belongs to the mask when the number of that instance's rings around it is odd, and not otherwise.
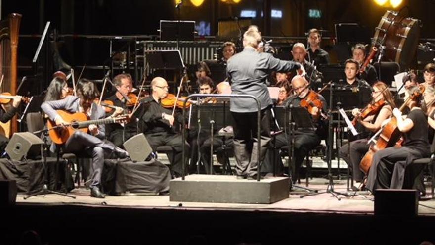
[{"label": "large tilted bass drum with brown shell, upper right", "polygon": [[420,38],[419,20],[388,10],[376,27],[372,46],[385,47],[382,61],[394,61],[400,70],[408,70],[415,60]]}]

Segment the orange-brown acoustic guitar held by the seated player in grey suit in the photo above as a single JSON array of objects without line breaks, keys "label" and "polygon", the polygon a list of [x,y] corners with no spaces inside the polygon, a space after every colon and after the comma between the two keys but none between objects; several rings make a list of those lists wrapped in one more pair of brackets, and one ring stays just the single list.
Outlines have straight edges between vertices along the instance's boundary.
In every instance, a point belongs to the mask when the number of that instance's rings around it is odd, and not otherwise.
[{"label": "orange-brown acoustic guitar held by the seated player in grey suit", "polygon": [[88,126],[91,124],[100,125],[108,123],[126,122],[129,120],[129,115],[123,115],[119,117],[108,117],[104,119],[89,120],[89,117],[82,112],[71,113],[64,110],[56,110],[56,112],[67,121],[67,125],[56,125],[52,120],[48,120],[47,128],[50,139],[58,145],[65,144],[71,135],[80,130],[87,133]]}]

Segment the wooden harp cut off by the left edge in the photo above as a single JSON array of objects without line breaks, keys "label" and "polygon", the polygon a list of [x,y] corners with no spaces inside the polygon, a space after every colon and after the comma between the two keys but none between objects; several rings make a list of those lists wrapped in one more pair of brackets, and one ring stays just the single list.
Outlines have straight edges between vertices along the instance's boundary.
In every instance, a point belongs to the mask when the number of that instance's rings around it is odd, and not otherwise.
[{"label": "wooden harp cut off by the left edge", "polygon": [[[17,91],[20,21],[21,14],[17,13],[9,14],[6,19],[0,21],[0,77],[4,75],[1,91],[10,92],[12,95]],[[0,133],[9,137],[17,131],[16,116],[8,123],[1,123],[0,126]]]}]

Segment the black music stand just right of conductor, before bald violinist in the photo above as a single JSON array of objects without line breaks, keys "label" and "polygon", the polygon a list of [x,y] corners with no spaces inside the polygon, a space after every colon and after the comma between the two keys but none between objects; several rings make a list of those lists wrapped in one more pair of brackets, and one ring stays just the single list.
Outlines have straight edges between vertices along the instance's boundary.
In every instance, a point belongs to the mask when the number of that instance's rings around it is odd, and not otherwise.
[{"label": "black music stand just right of conductor, before bald violinist", "polygon": [[[288,164],[289,168],[289,180],[290,180],[290,190],[292,190],[294,187],[307,190],[309,192],[317,193],[317,190],[310,189],[303,186],[297,186],[293,184],[292,180],[292,166],[296,168],[295,163],[295,131],[296,130],[315,130],[315,127],[311,121],[311,116],[308,113],[308,111],[304,107],[293,107],[292,104],[290,104],[289,108],[289,123],[290,123],[290,141],[289,141],[289,157],[292,157],[292,164]],[[309,164],[308,162],[306,163]]]}]

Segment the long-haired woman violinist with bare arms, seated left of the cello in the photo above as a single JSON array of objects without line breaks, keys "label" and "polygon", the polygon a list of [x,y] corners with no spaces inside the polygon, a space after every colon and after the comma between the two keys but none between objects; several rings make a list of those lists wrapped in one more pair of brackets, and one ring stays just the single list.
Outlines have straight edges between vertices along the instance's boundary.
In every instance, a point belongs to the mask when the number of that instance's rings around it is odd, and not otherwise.
[{"label": "long-haired woman violinist with bare arms, seated left of the cello", "polygon": [[[373,84],[372,87],[372,102],[363,110],[358,108],[353,109],[352,115],[357,119],[359,124],[373,133],[381,128],[381,123],[384,120],[392,116],[392,108],[395,105],[392,94],[387,89],[385,83],[379,81]],[[356,182],[362,182],[364,179],[364,173],[359,169],[359,163],[364,154],[369,150],[368,139],[355,140],[350,142],[350,144],[348,143],[340,147],[340,157],[348,163],[353,179]]]}]

